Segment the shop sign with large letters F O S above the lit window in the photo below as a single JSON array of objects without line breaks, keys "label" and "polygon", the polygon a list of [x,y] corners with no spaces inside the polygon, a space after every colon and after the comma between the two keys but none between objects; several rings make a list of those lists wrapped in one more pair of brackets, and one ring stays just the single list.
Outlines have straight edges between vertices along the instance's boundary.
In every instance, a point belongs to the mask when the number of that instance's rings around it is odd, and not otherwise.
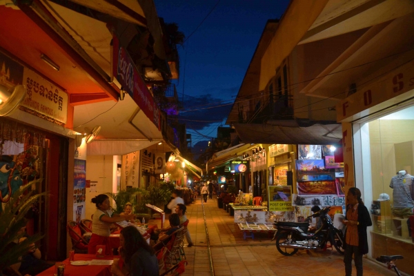
[{"label": "shop sign with large letters F O S above the lit window", "polygon": [[393,70],[371,86],[362,86],[362,88],[337,104],[337,121],[342,121],[412,90],[414,88],[414,61]]}]

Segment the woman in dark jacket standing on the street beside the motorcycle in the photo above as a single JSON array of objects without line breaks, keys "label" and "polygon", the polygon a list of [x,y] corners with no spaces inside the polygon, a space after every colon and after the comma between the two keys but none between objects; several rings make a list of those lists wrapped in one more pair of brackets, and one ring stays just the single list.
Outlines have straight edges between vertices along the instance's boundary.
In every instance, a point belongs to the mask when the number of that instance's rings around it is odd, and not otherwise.
[{"label": "woman in dark jacket standing on the street beside the motorcycle", "polygon": [[362,256],[368,253],[366,227],[373,225],[371,217],[361,199],[358,188],[350,188],[346,195],[346,227],[345,233],[345,275],[352,275],[352,255],[354,255],[357,276],[362,276]]}]

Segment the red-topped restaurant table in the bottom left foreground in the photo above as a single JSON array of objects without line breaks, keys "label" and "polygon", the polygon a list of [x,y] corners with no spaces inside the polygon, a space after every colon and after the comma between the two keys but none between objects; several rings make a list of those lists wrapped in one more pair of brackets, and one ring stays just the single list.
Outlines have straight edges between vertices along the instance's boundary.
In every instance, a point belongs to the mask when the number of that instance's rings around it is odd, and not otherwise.
[{"label": "red-topped restaurant table in the bottom left foreground", "polygon": [[[89,254],[75,254],[75,261],[92,261],[92,259],[113,259],[113,256],[97,258],[96,255]],[[63,261],[65,264],[65,276],[77,276],[77,275],[88,275],[88,276],[111,276],[110,266],[72,266],[69,259]],[[54,276],[55,266],[44,270],[39,276]]]}]

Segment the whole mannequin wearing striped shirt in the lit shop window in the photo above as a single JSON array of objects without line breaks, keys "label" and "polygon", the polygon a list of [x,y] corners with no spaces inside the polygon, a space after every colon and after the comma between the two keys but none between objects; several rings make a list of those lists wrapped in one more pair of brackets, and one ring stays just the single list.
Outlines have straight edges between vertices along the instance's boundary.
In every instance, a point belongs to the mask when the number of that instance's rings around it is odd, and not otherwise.
[{"label": "whole mannequin wearing striped shirt in the lit shop window", "polygon": [[395,217],[406,217],[413,215],[413,198],[411,197],[411,186],[414,177],[400,170],[391,179],[390,188],[393,188],[393,215]]}]

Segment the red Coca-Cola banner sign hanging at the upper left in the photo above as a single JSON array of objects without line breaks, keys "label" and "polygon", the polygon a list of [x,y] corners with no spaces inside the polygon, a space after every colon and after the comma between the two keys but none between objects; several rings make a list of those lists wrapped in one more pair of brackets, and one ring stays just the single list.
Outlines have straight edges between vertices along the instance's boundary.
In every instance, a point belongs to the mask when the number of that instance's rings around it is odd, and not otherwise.
[{"label": "red Coca-Cola banner sign hanging at the upper left", "polygon": [[141,78],[134,61],[125,48],[121,47],[119,39],[113,37],[112,75],[121,83],[130,97],[141,108],[145,115],[161,130],[160,112],[146,83]]}]

